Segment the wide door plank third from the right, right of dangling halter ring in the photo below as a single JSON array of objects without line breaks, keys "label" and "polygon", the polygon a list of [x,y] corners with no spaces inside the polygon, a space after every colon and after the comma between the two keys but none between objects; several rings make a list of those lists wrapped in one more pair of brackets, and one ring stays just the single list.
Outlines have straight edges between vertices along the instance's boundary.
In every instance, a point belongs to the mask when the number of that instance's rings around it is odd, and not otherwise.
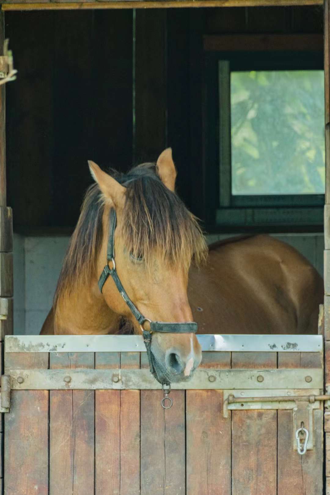
[{"label": "wide door plank third from the right, right of dangling halter ring", "polygon": [[[202,368],[229,369],[230,352],[204,352]],[[231,493],[231,418],[221,390],[187,390],[187,495]]]}]

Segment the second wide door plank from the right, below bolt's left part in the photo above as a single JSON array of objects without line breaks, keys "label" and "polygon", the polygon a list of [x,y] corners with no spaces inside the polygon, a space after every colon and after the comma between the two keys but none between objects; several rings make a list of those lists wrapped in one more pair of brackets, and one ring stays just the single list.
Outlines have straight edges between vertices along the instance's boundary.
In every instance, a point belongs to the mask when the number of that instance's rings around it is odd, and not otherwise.
[{"label": "second wide door plank from the right, below bolt's left part", "polygon": [[[232,368],[276,368],[275,352],[233,352]],[[277,494],[277,411],[232,411],[232,495]]]}]

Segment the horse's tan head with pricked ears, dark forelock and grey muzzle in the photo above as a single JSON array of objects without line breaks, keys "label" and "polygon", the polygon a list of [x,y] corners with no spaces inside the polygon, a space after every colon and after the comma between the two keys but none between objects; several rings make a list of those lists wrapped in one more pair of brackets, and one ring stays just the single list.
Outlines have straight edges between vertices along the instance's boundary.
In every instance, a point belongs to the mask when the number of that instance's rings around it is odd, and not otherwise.
[{"label": "horse's tan head with pricked ears, dark forelock and grey muzzle", "polygon": [[[136,334],[152,334],[151,359],[161,383],[187,379],[201,361],[200,345],[189,330],[188,272],[193,259],[198,263],[206,257],[207,248],[195,217],[174,191],[172,151],[117,178],[92,161],[89,166],[103,203],[96,261],[102,295],[111,310],[132,322]],[[106,260],[105,272],[113,276],[102,279]],[[156,322],[170,325],[165,331],[152,326]]]}]

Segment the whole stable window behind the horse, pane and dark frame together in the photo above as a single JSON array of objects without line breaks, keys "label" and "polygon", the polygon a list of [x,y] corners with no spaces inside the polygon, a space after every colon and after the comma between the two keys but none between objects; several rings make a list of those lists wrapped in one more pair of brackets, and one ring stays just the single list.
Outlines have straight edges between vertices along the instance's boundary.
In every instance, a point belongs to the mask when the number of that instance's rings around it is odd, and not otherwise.
[{"label": "whole stable window behind the horse, pane and dark frame together", "polygon": [[318,229],[325,191],[323,52],[315,40],[299,50],[296,35],[294,50],[289,36],[281,50],[281,36],[269,37],[264,50],[262,37],[244,38],[229,51],[232,37],[218,37],[207,54],[206,162],[217,160],[219,171],[215,223]]}]

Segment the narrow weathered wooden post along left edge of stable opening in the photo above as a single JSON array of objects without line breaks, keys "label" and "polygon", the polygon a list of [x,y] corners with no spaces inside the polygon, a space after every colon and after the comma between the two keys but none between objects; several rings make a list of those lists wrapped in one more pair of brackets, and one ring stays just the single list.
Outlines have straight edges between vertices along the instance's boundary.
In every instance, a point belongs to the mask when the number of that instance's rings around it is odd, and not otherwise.
[{"label": "narrow weathered wooden post along left edge of stable opening", "polygon": [[[4,14],[0,11],[0,54]],[[0,86],[0,374],[4,336],[13,333],[12,211],[6,206],[5,85]],[[0,415],[0,493],[3,490],[3,414]]]}]

